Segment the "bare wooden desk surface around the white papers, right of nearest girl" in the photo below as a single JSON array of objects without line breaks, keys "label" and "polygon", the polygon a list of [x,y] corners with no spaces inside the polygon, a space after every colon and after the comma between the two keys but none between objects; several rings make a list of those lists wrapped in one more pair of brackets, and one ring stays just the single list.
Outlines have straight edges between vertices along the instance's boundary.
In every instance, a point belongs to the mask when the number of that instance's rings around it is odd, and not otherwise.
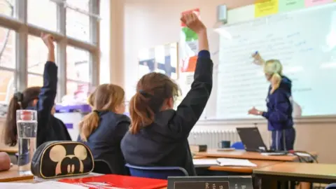
[{"label": "bare wooden desk surface around the white papers, right of nearest girl", "polygon": [[278,161],[262,161],[262,160],[251,160],[251,162],[257,165],[257,167],[211,166],[208,169],[211,171],[219,171],[219,172],[235,172],[235,173],[252,174],[253,169],[260,169],[262,167],[268,167],[271,165],[282,163]]}]

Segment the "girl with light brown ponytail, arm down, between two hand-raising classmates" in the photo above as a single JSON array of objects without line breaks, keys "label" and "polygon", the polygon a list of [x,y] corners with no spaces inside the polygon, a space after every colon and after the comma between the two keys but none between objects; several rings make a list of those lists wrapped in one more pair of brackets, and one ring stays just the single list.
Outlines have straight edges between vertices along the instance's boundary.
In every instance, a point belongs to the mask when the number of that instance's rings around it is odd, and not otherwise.
[{"label": "girl with light brown ponytail, arm down, between two hand-raising classmates", "polygon": [[[112,174],[127,175],[120,141],[130,127],[125,112],[125,92],[113,84],[99,85],[88,99],[92,112],[79,123],[82,141],[90,147],[94,160],[104,160]],[[106,167],[107,169],[107,167]]]}]

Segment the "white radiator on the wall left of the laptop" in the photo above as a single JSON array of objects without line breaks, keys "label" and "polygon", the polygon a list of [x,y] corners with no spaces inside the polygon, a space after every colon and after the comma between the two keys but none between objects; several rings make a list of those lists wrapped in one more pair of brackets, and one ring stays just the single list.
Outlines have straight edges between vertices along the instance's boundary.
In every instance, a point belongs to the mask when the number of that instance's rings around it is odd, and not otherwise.
[{"label": "white radiator on the wall left of the laptop", "polygon": [[218,148],[220,141],[231,141],[231,144],[240,141],[237,130],[204,130],[192,131],[188,137],[189,144],[207,144],[208,148]]}]

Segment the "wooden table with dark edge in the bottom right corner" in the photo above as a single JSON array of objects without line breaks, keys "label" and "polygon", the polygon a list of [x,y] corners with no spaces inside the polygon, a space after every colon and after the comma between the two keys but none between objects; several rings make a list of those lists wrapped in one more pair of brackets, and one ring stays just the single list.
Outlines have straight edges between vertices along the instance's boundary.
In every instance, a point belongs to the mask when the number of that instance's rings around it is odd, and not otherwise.
[{"label": "wooden table with dark edge in the bottom right corner", "polygon": [[[260,169],[253,169],[253,174],[258,181],[264,182],[269,180],[278,181],[298,181],[307,183],[335,183],[336,182],[336,165],[316,164],[316,163],[299,163],[283,162]],[[262,186],[265,188],[266,186]],[[292,186],[293,188],[293,186]]]}]

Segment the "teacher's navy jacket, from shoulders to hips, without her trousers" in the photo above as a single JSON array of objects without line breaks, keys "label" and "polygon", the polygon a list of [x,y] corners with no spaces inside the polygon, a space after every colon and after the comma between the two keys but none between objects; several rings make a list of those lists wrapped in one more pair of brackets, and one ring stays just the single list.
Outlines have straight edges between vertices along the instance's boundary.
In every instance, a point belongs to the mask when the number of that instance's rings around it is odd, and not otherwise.
[{"label": "teacher's navy jacket, from shoulders to hips, without her trousers", "polygon": [[262,113],[268,120],[268,130],[286,130],[293,127],[292,81],[281,76],[281,83],[273,94],[269,87],[267,95],[267,111]]}]

